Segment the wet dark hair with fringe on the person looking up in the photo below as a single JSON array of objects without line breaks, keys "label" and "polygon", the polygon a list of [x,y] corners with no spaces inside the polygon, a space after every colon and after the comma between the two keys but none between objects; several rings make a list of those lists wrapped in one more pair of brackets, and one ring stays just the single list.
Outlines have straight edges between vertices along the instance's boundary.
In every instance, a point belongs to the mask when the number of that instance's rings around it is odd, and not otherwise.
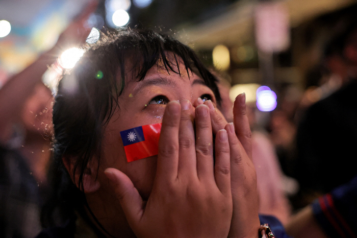
[{"label": "wet dark hair with fringe on the person looking up", "polygon": [[[53,108],[54,191],[61,193],[54,197],[62,204],[59,205],[62,211],[70,209],[70,206],[79,208],[81,203],[82,206],[85,203],[81,192],[85,170],[88,163],[99,163],[104,128],[114,111],[120,110],[118,97],[127,79],[143,80],[148,70],[159,64],[169,74],[181,75],[181,62],[187,73],[190,70],[205,81],[220,102],[216,78],[193,50],[168,35],[125,28],[102,34],[98,42],[85,48],[81,60],[62,77]],[[80,170],[77,184],[80,189],[71,183],[63,166],[63,157],[75,159],[73,177],[75,170]],[[96,161],[92,161],[94,157]],[[50,213],[54,210],[52,208]],[[47,226],[53,225],[46,217],[48,211],[42,220]]]}]

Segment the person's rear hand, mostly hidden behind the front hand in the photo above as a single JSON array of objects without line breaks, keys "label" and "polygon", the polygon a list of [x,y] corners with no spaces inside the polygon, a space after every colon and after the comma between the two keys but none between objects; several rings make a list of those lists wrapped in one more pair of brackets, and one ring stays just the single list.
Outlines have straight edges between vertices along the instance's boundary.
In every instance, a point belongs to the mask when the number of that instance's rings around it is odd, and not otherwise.
[{"label": "person's rear hand, mostly hidden behind the front hand", "polygon": [[[198,100],[195,105],[202,103]],[[239,94],[234,102],[234,123],[227,124],[211,100],[203,104],[210,108],[213,133],[225,129],[230,144],[233,216],[228,237],[258,237],[260,221],[257,176],[252,162],[251,131],[246,115],[245,94]]]}]

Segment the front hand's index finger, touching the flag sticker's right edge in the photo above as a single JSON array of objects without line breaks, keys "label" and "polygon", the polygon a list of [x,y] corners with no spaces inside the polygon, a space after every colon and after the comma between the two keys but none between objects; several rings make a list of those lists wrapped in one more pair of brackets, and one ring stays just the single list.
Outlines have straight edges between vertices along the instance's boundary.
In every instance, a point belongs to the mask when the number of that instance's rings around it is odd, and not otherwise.
[{"label": "front hand's index finger, touching the flag sticker's right edge", "polygon": [[[172,181],[177,177],[179,161],[179,126],[181,106],[177,101],[167,104],[159,139],[157,181]],[[159,178],[159,179],[158,179]]]}]

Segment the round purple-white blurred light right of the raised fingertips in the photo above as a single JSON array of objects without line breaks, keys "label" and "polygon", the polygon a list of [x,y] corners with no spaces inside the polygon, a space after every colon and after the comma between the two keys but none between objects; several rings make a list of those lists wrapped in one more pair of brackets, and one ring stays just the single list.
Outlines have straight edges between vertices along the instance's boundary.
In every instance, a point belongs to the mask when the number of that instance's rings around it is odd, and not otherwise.
[{"label": "round purple-white blurred light right of the raised fingertips", "polygon": [[260,111],[272,111],[276,108],[276,94],[267,86],[257,89],[257,107]]}]

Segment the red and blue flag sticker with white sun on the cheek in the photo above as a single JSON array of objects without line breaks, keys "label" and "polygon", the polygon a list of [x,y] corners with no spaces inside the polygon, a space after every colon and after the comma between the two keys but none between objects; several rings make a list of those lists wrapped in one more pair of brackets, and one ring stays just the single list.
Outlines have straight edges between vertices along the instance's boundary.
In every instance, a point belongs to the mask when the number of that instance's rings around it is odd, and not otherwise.
[{"label": "red and blue flag sticker with white sun on the cheek", "polygon": [[161,123],[120,131],[127,162],[158,154]]}]

